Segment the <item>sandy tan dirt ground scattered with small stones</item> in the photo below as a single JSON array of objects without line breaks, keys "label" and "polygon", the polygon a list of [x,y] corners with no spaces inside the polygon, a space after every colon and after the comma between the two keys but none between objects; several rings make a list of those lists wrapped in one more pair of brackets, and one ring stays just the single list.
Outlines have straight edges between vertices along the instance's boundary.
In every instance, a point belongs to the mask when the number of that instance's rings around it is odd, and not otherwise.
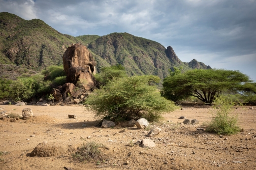
[{"label": "sandy tan dirt ground scattered with small stones", "polygon": [[[239,125],[237,135],[223,136],[198,131],[203,122],[212,118],[210,108],[183,107],[183,110],[164,114],[162,123],[153,123],[162,132],[146,137],[145,130],[127,128],[103,129],[93,113],[83,106],[14,106],[2,105],[4,110],[22,114],[30,107],[34,118],[10,122],[0,120],[0,169],[256,169],[256,109],[235,106]],[[69,119],[68,114],[77,115]],[[177,125],[185,116],[198,119],[198,125]],[[174,124],[167,122],[172,120]],[[83,125],[86,124],[86,125]],[[90,136],[90,139],[87,137]],[[149,138],[156,143],[152,149],[134,145]],[[33,149],[44,141],[63,147],[77,148],[87,141],[102,143],[104,162],[78,162],[75,151],[57,156],[30,157]]]}]

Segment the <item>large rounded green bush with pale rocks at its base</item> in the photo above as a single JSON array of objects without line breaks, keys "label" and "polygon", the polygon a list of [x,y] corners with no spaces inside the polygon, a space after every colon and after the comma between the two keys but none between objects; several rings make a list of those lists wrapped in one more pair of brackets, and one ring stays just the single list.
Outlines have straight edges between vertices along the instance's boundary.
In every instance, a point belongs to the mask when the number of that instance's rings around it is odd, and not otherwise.
[{"label": "large rounded green bush with pale rocks at its base", "polygon": [[95,118],[108,117],[117,121],[144,117],[158,120],[164,111],[173,111],[173,102],[161,97],[152,82],[160,78],[153,75],[114,78],[102,89],[94,90],[86,100],[90,109],[96,111]]}]

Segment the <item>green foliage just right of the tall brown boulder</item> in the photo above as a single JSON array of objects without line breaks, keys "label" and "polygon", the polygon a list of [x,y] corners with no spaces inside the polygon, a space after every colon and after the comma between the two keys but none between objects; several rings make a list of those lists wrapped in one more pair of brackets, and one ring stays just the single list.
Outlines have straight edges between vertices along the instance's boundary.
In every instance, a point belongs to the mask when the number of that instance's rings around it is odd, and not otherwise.
[{"label": "green foliage just right of the tall brown boulder", "polygon": [[95,78],[100,86],[105,86],[108,81],[111,81],[114,78],[123,78],[126,76],[125,68],[120,64],[111,67],[103,67],[99,74],[95,74]]}]

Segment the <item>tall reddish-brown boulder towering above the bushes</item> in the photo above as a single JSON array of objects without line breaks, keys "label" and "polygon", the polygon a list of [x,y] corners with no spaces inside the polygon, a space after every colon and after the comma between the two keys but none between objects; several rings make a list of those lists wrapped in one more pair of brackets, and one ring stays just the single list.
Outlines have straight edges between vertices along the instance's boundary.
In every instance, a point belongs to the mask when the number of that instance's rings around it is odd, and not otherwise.
[{"label": "tall reddish-brown boulder towering above the bushes", "polygon": [[91,90],[96,85],[93,73],[95,73],[95,61],[89,50],[79,44],[73,44],[63,54],[63,67],[67,75],[67,82],[82,83],[85,90]]}]

